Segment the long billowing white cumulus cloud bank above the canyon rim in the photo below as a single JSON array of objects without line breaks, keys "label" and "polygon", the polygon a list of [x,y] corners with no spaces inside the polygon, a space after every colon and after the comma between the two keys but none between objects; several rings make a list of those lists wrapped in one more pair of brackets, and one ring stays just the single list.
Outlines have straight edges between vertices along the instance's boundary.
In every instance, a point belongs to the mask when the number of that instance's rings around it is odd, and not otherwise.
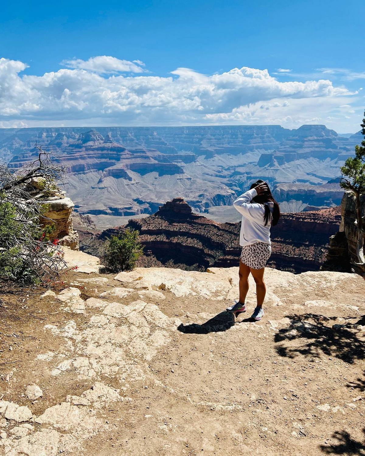
[{"label": "long billowing white cumulus cloud bank above the canyon rim", "polygon": [[[143,73],[140,61],[114,57],[74,60],[69,66],[73,69],[34,76],[22,74],[25,63],[0,59],[2,125],[237,122],[291,126],[296,125],[296,119],[302,122],[300,119],[319,117],[320,109],[322,117],[327,117],[334,106],[350,104],[353,95],[328,79],[279,82],[267,70],[249,67],[214,75],[177,68],[171,76],[159,77]],[[140,74],[120,74],[125,68]],[[295,109],[310,112],[295,115]]]}]

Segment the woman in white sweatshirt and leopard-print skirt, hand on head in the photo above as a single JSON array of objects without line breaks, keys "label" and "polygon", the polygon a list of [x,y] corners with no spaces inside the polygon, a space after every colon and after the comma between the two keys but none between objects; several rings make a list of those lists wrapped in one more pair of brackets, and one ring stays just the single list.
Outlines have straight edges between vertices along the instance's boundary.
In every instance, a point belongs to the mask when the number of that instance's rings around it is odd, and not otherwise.
[{"label": "woman in white sweatshirt and leopard-print skirt, hand on head", "polygon": [[240,299],[234,306],[227,307],[235,316],[246,311],[245,299],[248,292],[248,276],[252,274],[256,282],[257,306],[251,316],[261,320],[264,316],[262,304],[266,295],[264,271],[271,255],[270,227],[276,225],[280,217],[279,205],[271,195],[264,181],[254,182],[250,190],[233,203],[242,214],[240,245]]}]

